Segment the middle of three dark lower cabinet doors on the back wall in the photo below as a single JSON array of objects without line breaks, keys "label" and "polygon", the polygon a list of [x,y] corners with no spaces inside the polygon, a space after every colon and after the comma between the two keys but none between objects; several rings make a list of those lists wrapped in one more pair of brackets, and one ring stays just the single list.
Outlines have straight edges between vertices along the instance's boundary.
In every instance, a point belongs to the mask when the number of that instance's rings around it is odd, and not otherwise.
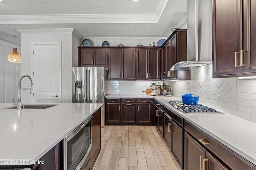
[{"label": "middle of three dark lower cabinet doors on the back wall", "polygon": [[136,104],[122,104],[122,123],[129,125],[136,123]]}]

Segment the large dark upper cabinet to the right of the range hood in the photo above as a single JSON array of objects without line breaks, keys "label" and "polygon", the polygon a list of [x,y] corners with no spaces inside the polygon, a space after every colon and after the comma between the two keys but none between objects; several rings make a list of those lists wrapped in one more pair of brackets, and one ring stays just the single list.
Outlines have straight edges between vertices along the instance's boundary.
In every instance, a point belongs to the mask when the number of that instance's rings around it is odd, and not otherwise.
[{"label": "large dark upper cabinet to the right of the range hood", "polygon": [[213,0],[213,78],[256,75],[256,1]]}]

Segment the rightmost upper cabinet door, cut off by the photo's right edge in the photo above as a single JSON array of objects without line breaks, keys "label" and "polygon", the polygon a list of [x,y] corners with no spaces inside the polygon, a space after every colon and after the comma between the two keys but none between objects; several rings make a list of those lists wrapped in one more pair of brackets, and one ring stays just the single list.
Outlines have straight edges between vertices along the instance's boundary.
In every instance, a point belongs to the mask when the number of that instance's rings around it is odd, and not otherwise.
[{"label": "rightmost upper cabinet door, cut off by the photo's right edge", "polygon": [[[243,63],[246,64],[243,67],[243,73],[255,73],[256,72],[256,1],[244,0],[244,33],[243,33],[243,49],[244,52]],[[246,38],[247,37],[247,38]]]}]

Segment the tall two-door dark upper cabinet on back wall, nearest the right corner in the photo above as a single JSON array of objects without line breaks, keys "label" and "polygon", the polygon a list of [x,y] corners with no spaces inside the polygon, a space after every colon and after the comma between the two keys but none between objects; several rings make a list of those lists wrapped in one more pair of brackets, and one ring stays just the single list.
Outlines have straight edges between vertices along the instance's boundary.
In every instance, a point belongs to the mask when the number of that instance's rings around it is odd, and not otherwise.
[{"label": "tall two-door dark upper cabinet on back wall, nearest the right corner", "polygon": [[160,79],[160,52],[158,47],[138,48],[137,55],[137,80]]}]

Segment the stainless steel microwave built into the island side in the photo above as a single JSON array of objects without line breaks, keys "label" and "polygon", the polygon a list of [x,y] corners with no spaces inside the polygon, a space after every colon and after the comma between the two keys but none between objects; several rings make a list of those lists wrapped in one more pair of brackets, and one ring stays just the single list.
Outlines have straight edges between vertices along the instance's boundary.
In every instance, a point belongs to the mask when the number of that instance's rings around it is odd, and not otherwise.
[{"label": "stainless steel microwave built into the island side", "polygon": [[64,170],[80,170],[91,148],[91,117],[89,117],[64,138]]}]

